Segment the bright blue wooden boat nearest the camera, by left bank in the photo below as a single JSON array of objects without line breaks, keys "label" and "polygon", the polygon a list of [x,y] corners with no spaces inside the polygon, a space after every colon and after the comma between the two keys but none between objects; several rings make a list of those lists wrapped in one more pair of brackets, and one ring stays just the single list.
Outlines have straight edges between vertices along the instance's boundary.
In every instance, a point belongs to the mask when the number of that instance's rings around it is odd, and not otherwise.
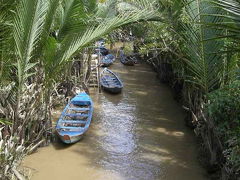
[{"label": "bright blue wooden boat nearest the camera, by left bank", "polygon": [[71,144],[79,141],[88,130],[93,113],[93,102],[85,92],[79,93],[64,108],[56,125],[60,139]]}]

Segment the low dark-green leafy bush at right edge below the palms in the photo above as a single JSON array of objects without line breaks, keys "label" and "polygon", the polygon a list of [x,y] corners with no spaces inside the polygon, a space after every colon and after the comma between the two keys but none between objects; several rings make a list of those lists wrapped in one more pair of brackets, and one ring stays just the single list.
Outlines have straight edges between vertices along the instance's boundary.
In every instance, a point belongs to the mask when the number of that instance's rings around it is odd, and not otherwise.
[{"label": "low dark-green leafy bush at right edge below the palms", "polygon": [[205,110],[224,144],[227,164],[240,171],[240,81],[209,94]]}]

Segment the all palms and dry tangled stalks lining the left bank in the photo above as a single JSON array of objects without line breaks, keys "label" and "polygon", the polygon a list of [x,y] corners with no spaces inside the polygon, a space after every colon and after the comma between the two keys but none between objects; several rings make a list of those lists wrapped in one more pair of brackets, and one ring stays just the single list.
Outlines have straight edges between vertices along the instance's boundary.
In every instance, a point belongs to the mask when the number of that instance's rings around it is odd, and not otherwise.
[{"label": "all palms and dry tangled stalks lining the left bank", "polygon": [[53,96],[73,60],[112,30],[155,16],[147,0],[0,1],[1,179],[21,176],[22,149],[51,140]]}]

